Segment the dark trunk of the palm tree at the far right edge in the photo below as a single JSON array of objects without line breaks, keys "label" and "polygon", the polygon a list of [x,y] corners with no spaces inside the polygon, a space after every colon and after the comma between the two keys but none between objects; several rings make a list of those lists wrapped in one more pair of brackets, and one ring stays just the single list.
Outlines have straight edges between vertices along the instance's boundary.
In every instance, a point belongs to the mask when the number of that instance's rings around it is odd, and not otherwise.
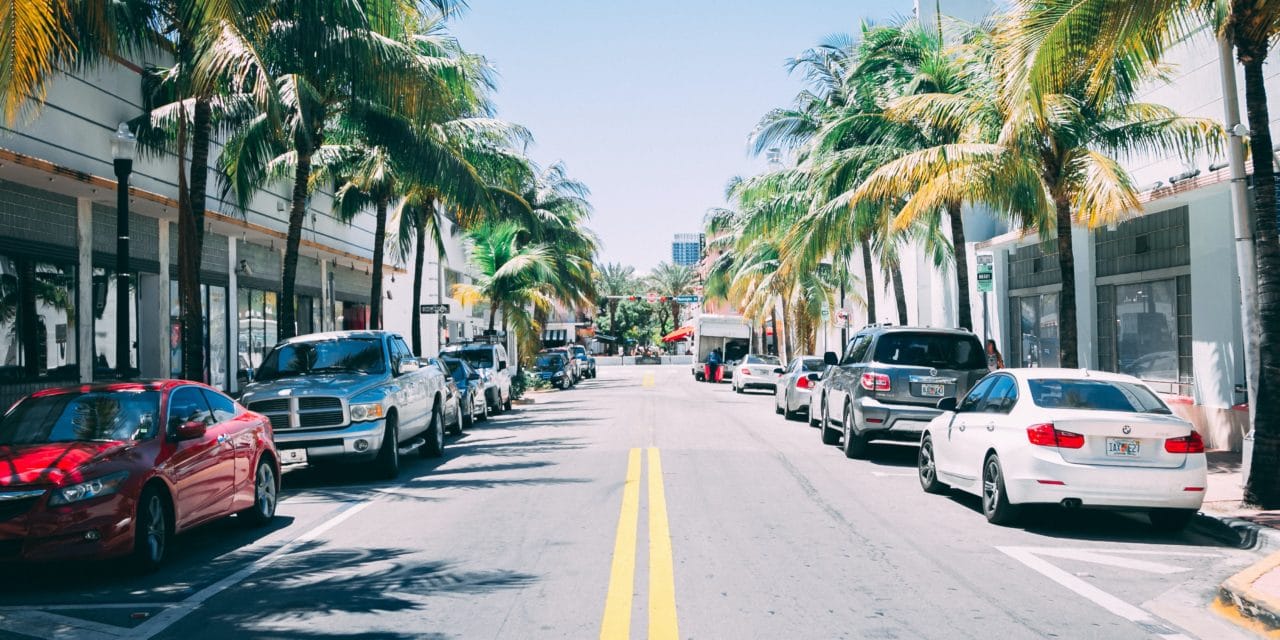
[{"label": "dark trunk of the palm tree at the far right edge", "polygon": [[1280,229],[1276,220],[1276,178],[1271,151],[1271,114],[1263,63],[1267,42],[1240,47],[1244,63],[1244,108],[1253,159],[1253,224],[1258,265],[1258,370],[1253,420],[1253,466],[1244,502],[1266,509],[1280,507]]}]

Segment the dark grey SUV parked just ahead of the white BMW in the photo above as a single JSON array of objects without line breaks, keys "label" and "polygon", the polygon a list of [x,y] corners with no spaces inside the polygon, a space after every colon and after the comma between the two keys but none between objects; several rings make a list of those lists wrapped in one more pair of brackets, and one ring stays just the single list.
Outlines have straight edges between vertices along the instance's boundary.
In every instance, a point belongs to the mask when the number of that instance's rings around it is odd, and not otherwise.
[{"label": "dark grey SUV parked just ahead of the white BMW", "polygon": [[822,442],[867,456],[872,440],[920,442],[942,398],[964,396],[987,375],[978,337],[960,329],[873,325],[844,357],[826,353]]}]

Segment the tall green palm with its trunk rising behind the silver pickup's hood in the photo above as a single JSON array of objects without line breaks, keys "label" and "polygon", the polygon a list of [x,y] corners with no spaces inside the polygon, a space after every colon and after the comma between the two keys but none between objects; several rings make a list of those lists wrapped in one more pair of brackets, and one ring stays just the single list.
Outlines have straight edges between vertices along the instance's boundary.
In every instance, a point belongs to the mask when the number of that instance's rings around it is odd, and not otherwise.
[{"label": "tall green palm with its trunk rising behind the silver pickup's hood", "polygon": [[[452,3],[433,0],[447,12]],[[392,0],[273,0],[271,18],[256,42],[260,55],[225,46],[210,65],[234,70],[238,82],[270,78],[280,127],[260,115],[233,136],[221,168],[241,207],[273,179],[292,180],[289,230],[280,283],[279,337],[296,332],[294,284],[307,197],[325,165],[340,154],[340,123],[378,122],[364,133],[397,136],[392,123],[429,120],[433,108],[451,104],[448,76],[460,63],[422,55],[413,46],[421,15]],[[393,133],[394,132],[394,133]],[[399,140],[370,140],[394,145]],[[421,151],[421,150],[420,150]],[[413,155],[419,170],[447,160],[447,154]],[[319,160],[319,163],[317,163]]]}]

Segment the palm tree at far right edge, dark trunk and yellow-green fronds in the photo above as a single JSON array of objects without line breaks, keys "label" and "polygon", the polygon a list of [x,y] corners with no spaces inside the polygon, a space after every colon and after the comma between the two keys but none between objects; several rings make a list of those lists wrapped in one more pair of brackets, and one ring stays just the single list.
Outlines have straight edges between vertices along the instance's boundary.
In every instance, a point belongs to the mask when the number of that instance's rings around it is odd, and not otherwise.
[{"label": "palm tree at far right edge, dark trunk and yellow-green fronds", "polygon": [[[1091,91],[1105,91],[1117,64],[1158,61],[1169,47],[1204,24],[1225,38],[1244,67],[1244,105],[1253,166],[1252,227],[1258,282],[1258,384],[1253,401],[1254,470],[1280,468],[1280,221],[1265,64],[1280,37],[1280,3],[1254,0],[1020,0],[1012,46],[1030,59],[1018,78],[1034,91],[1085,73]],[[1082,69],[1083,68],[1083,69]],[[1256,479],[1256,480],[1254,480]],[[1280,474],[1254,472],[1251,504],[1280,506]]]}]

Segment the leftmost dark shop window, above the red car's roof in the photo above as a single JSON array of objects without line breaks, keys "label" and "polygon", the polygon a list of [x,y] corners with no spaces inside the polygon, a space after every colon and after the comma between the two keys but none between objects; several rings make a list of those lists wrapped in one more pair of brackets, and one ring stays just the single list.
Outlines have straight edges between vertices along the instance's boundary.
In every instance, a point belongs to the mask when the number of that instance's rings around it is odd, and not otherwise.
[{"label": "leftmost dark shop window, above the red car's roof", "polygon": [[0,256],[0,383],[76,379],[76,268]]}]

